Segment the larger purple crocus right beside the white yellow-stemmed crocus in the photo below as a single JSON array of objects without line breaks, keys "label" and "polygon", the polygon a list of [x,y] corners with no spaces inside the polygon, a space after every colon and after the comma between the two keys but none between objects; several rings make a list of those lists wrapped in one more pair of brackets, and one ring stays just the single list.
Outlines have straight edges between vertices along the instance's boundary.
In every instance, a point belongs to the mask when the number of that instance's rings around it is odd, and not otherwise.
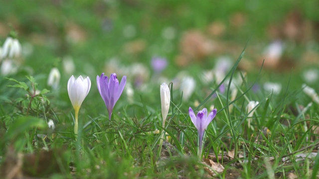
[{"label": "larger purple crocus right beside the white yellow-stemmed crocus", "polygon": [[126,84],[126,76],[122,77],[121,84],[119,84],[119,80],[116,77],[116,74],[113,73],[108,80],[108,77],[102,73],[101,77],[96,77],[97,85],[99,92],[105,102],[106,107],[109,111],[109,120],[111,120],[112,111],[116,101],[120,98],[125,84]]}]

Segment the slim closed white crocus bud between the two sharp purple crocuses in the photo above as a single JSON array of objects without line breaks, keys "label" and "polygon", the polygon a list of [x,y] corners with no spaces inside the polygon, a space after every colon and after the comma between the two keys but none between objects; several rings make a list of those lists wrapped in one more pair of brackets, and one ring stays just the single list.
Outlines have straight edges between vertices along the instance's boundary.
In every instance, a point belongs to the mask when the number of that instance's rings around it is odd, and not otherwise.
[{"label": "slim closed white crocus bud between the two sharp purple crocuses", "polygon": [[170,91],[167,84],[162,83],[160,85],[160,103],[161,103],[161,117],[162,117],[162,126],[164,127],[165,119],[169,110],[170,102]]}]

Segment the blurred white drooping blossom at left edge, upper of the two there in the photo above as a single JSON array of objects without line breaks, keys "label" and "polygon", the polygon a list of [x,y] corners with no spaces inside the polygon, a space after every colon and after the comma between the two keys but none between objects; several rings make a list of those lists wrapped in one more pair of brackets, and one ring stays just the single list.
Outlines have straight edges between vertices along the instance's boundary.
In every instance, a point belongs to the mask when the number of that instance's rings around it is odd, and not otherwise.
[{"label": "blurred white drooping blossom at left edge, upper of the two there", "polygon": [[17,39],[7,37],[2,46],[1,59],[17,58],[21,55],[21,45]]}]

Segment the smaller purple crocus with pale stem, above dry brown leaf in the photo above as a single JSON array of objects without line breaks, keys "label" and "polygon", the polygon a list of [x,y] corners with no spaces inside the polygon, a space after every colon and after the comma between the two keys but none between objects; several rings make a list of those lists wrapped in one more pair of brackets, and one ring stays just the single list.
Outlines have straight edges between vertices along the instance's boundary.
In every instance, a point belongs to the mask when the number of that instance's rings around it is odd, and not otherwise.
[{"label": "smaller purple crocus with pale stem, above dry brown leaf", "polygon": [[208,124],[215,117],[217,113],[217,109],[213,109],[207,116],[207,109],[203,108],[202,110],[198,111],[197,116],[195,116],[193,109],[189,107],[188,113],[189,113],[191,121],[195,125],[198,132],[198,139],[199,139],[198,157],[201,158],[204,132]]}]

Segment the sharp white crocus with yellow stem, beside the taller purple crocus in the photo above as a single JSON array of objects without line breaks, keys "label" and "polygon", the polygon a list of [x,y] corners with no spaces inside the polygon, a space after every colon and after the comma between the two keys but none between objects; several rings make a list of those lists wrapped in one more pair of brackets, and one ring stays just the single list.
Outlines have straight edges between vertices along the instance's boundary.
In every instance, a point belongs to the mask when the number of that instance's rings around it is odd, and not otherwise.
[{"label": "sharp white crocus with yellow stem, beside the taller purple crocus", "polygon": [[68,93],[75,111],[74,133],[78,133],[78,114],[81,104],[91,89],[90,78],[83,79],[82,76],[75,80],[74,76],[68,81]]}]

